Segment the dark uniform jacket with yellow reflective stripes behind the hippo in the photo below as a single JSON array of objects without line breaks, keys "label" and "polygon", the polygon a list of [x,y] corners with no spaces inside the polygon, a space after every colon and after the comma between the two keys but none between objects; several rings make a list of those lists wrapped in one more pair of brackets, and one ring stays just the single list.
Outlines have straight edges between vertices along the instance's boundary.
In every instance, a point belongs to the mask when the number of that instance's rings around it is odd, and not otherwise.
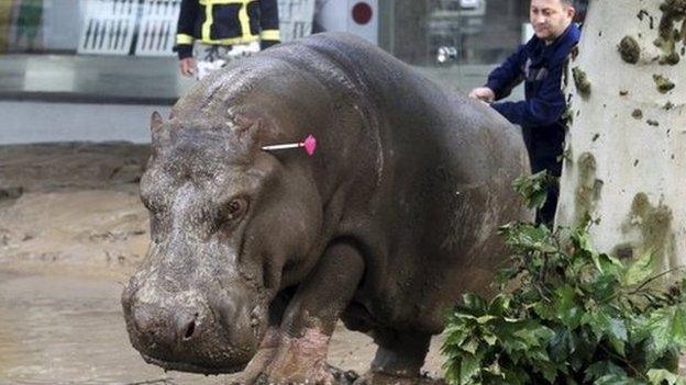
[{"label": "dark uniform jacket with yellow reflective stripes behind the hippo", "polygon": [[179,59],[192,56],[193,41],[234,45],[279,42],[277,0],[182,0],[176,47]]}]

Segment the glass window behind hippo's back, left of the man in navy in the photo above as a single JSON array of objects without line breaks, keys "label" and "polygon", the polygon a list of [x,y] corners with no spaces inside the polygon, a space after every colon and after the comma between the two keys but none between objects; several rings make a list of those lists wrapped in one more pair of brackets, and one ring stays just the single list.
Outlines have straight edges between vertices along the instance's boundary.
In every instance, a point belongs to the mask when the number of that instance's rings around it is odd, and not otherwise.
[{"label": "glass window behind hippo's back, left of the man in navy", "polygon": [[[583,16],[588,0],[575,1]],[[464,92],[528,41],[530,0],[381,1],[379,45]],[[511,98],[521,98],[514,92]]]}]

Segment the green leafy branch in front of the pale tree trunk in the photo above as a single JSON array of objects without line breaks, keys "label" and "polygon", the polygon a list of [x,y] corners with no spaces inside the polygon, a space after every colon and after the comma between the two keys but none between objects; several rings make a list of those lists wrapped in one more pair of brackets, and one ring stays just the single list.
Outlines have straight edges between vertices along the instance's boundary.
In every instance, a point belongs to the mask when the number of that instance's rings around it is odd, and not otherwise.
[{"label": "green leafy branch in front of the pale tree trunk", "polygon": [[573,229],[510,224],[500,294],[465,294],[447,315],[450,384],[686,384],[686,280],[666,288],[648,252],[628,263]]}]

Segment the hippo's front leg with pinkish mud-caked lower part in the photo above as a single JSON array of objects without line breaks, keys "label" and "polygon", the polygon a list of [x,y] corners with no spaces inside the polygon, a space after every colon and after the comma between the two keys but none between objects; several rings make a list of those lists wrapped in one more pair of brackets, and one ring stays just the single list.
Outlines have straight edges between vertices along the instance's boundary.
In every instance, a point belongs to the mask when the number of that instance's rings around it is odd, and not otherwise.
[{"label": "hippo's front leg with pinkish mud-caked lower part", "polygon": [[327,365],[329,340],[363,273],[364,260],[355,248],[338,244],[327,249],[288,304],[279,328],[280,341],[259,382],[333,383]]}]

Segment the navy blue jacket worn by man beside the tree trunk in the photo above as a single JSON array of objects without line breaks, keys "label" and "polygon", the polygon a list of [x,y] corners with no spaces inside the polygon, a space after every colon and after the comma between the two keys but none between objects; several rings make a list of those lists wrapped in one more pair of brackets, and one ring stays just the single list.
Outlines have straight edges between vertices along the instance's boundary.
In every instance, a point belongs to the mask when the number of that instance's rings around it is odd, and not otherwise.
[{"label": "navy blue jacket worn by man beside the tree trunk", "polygon": [[524,101],[494,103],[493,107],[511,123],[529,128],[533,140],[544,147],[535,151],[539,154],[530,154],[532,160],[562,154],[562,115],[566,110],[562,76],[579,36],[580,31],[574,23],[551,45],[545,45],[534,35],[488,77],[486,87],[495,92],[496,100],[507,98],[514,87],[524,81]]}]

